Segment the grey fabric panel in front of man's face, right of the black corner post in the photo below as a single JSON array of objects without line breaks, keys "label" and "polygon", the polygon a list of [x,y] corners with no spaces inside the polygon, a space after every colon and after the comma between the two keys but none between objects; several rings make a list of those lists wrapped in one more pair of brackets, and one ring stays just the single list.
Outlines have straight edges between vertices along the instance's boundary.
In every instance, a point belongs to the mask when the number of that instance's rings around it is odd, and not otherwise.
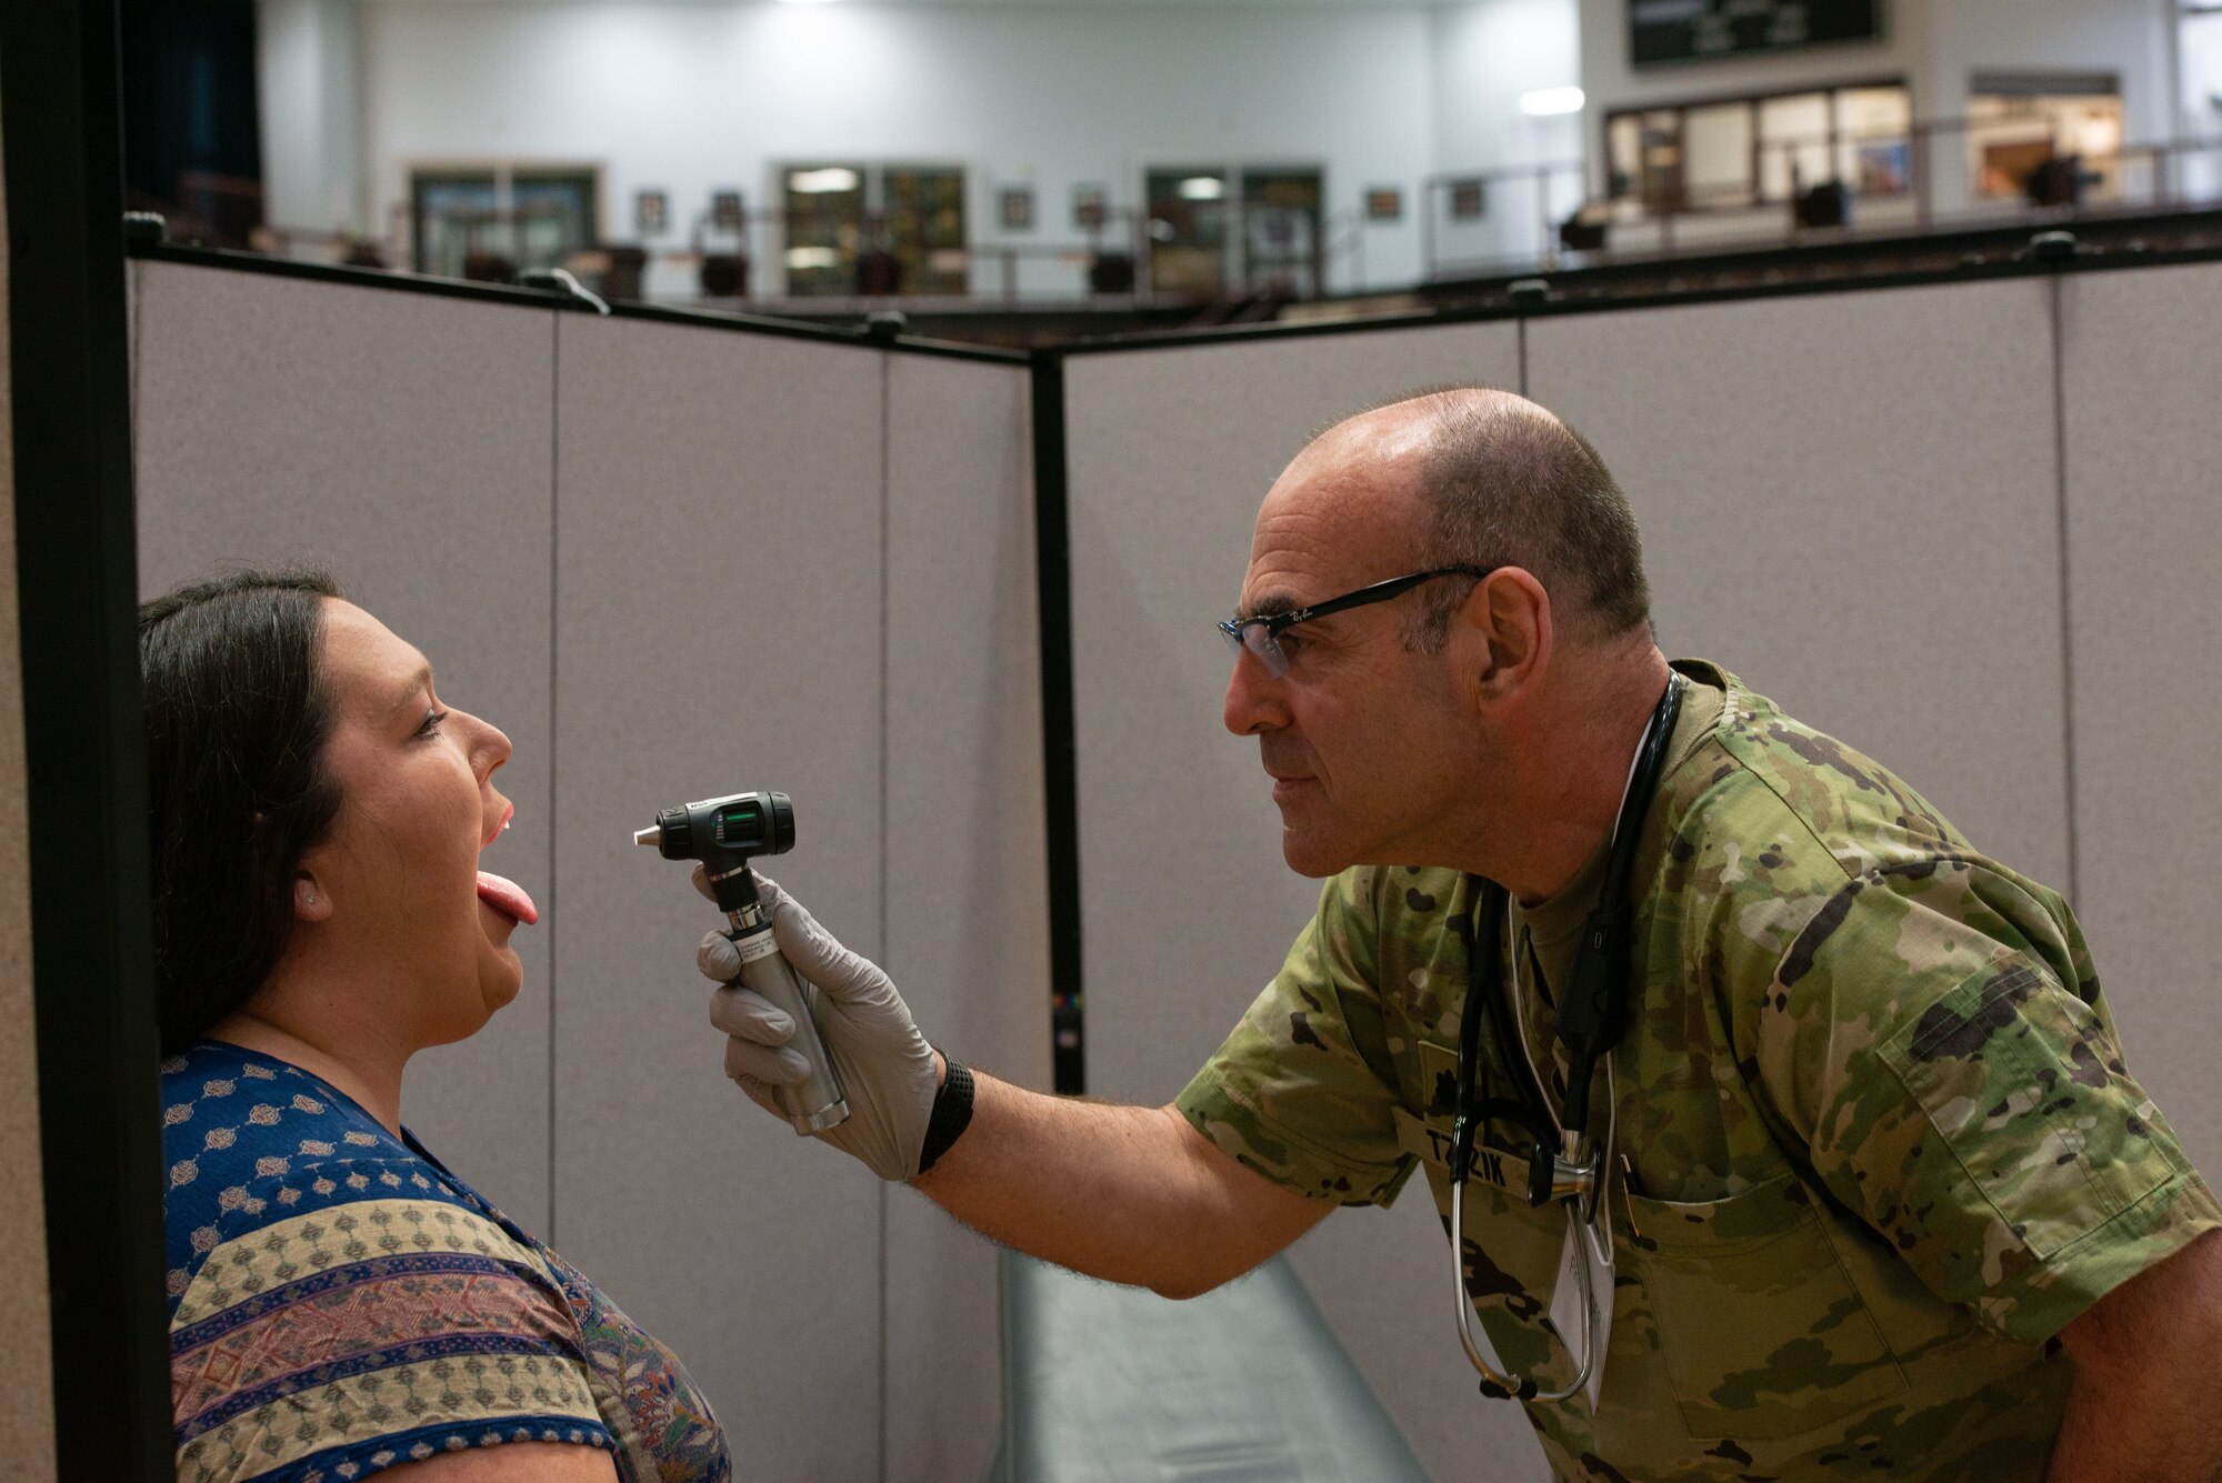
[{"label": "grey fabric panel in front of man's face, right of the black corner post", "polygon": [[[1509,322],[1353,331],[1073,355],[1064,377],[1089,1092],[1155,1106],[1320,890],[1282,864],[1258,744],[1220,722],[1233,662],[1211,624],[1240,597],[1258,502],[1360,406],[1518,386],[1520,340]],[[1518,1459],[1493,1476],[1544,1476],[1518,1408],[1473,1394],[1424,1190],[1327,1219],[1291,1259],[1431,1472],[1487,1456]]]}]

